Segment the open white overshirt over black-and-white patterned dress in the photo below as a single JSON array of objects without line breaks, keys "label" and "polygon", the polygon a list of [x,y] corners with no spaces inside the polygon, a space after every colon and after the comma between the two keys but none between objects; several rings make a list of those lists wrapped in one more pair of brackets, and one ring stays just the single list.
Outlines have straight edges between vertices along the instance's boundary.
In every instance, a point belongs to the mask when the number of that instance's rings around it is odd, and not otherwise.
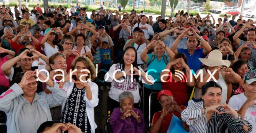
[{"label": "open white overshirt over black-and-white patterned dress", "polygon": [[[91,133],[95,133],[95,129],[97,128],[97,125],[94,121],[94,107],[96,107],[99,103],[99,98],[98,98],[98,85],[95,84],[94,82],[88,81],[88,84],[90,86],[91,89],[91,93],[93,93],[91,100],[88,100],[88,98],[86,97],[86,94],[83,97],[83,100],[86,102],[86,113],[87,113],[87,117],[89,119],[90,122],[90,126],[91,126]],[[63,85],[63,89],[65,90],[65,92],[67,92],[67,97],[71,94],[72,89],[74,86],[74,82],[65,82]],[[65,98],[62,102],[62,109],[61,112],[63,112],[64,106],[66,104],[67,98]]]}]

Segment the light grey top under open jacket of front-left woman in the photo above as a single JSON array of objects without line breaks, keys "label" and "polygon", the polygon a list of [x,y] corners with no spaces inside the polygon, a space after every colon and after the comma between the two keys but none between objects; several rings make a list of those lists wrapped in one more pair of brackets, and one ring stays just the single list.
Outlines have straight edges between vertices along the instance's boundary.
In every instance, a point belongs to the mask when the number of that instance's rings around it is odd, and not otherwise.
[{"label": "light grey top under open jacket of front-left woman", "polygon": [[47,115],[41,108],[38,101],[38,94],[35,93],[32,104],[26,100],[19,113],[19,130],[20,133],[36,133],[39,126],[45,122],[50,121]]}]

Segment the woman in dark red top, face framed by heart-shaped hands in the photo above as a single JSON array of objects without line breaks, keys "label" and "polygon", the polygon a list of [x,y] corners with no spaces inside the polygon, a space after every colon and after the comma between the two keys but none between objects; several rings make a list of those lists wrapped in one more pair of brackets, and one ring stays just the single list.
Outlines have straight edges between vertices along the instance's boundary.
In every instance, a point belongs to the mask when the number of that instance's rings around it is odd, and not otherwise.
[{"label": "woman in dark red top, face framed by heart-shaped hands", "polygon": [[[177,77],[177,74],[182,77]],[[188,102],[187,88],[195,85],[194,78],[190,78],[191,74],[187,57],[183,53],[177,53],[174,60],[170,61],[160,74],[162,89],[170,90],[178,105]]]}]

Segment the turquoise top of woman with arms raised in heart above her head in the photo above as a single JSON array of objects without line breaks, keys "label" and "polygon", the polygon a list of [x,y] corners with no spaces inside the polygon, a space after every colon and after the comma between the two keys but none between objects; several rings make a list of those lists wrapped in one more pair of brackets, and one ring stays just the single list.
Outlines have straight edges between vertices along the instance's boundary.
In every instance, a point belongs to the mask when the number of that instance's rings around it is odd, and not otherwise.
[{"label": "turquoise top of woman with arms raised in heart above her head", "polygon": [[[148,64],[153,54],[150,53],[147,55],[148,55],[148,61],[147,61],[147,64]],[[163,56],[160,60],[158,60],[156,55],[154,56],[155,56],[155,59],[148,66],[147,72],[148,72],[148,75],[151,75],[154,78],[155,83],[153,85],[144,84],[144,86],[146,88],[150,88],[154,90],[162,90],[162,84],[161,84],[161,81],[159,80],[159,76],[162,70],[165,69],[166,63],[163,60]],[[169,56],[167,55],[166,57],[167,57],[167,62],[169,63]]]}]

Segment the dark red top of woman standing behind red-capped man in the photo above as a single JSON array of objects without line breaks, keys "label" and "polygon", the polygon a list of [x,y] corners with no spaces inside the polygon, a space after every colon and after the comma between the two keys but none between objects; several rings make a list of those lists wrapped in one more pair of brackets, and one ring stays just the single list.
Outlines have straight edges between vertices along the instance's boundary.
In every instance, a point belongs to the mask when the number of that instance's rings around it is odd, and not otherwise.
[{"label": "dark red top of woman standing behind red-capped man", "polygon": [[[186,73],[184,73],[186,75]],[[183,77],[185,78],[185,77]],[[170,79],[170,76],[167,78],[167,81]],[[183,80],[183,79],[182,79]],[[185,105],[188,102],[187,96],[187,84],[186,79],[183,81],[176,81],[172,78],[172,81],[162,82],[162,89],[170,90],[173,94],[174,100],[178,105]]]}]

